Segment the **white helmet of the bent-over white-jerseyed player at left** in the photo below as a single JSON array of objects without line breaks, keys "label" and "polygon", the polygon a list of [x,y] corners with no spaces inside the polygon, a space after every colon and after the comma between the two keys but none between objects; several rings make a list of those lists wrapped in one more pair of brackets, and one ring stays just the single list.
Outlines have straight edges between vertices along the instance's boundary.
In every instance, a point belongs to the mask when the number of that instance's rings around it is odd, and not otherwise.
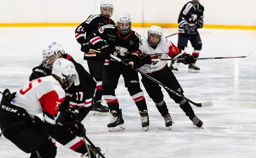
[{"label": "white helmet of the bent-over white-jerseyed player at left", "polygon": [[75,65],[65,58],[58,58],[52,65],[52,76],[60,82],[65,90],[74,83],[75,74]]}]

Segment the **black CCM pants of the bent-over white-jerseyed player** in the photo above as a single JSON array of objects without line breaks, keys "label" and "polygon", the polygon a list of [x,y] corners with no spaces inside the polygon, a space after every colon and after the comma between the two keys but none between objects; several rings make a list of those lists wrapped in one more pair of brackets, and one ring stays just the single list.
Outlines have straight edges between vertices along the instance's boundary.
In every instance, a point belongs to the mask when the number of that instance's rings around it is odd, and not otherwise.
[{"label": "black CCM pants of the bent-over white-jerseyed player", "polygon": [[0,128],[2,134],[31,158],[54,158],[57,147],[40,118],[29,114],[20,107],[1,101]]}]

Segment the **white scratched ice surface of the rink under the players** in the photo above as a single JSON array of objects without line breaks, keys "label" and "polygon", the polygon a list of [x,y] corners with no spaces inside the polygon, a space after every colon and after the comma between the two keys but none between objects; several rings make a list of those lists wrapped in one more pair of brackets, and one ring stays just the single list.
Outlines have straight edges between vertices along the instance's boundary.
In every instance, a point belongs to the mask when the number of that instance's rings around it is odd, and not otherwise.
[{"label": "white scratched ice surface of the rink under the players", "polygon": [[[147,35],[148,28],[132,29],[142,37]],[[177,32],[175,28],[163,30],[164,36]],[[175,76],[185,97],[196,103],[214,103],[211,107],[191,105],[204,128],[193,126],[164,91],[165,102],[175,122],[172,130],[166,128],[164,118],[141,84],[150,120],[149,130],[145,131],[121,77],[116,96],[123,109],[126,129],[109,132],[107,124],[111,115],[87,115],[82,122],[86,136],[96,146],[107,149],[107,158],[255,157],[256,31],[200,29],[199,33],[203,43],[199,57],[243,56],[252,51],[247,58],[198,60],[200,73],[189,73],[187,65],[178,67]],[[9,88],[15,92],[28,82],[32,68],[42,61],[42,47],[52,41],[62,44],[65,51],[88,70],[74,35],[75,27],[0,28],[0,91]],[[177,45],[177,35],[168,39]],[[189,43],[185,52],[192,50]],[[61,144],[57,143],[57,147],[57,158],[80,157]],[[4,136],[0,137],[1,158],[29,156]]]}]

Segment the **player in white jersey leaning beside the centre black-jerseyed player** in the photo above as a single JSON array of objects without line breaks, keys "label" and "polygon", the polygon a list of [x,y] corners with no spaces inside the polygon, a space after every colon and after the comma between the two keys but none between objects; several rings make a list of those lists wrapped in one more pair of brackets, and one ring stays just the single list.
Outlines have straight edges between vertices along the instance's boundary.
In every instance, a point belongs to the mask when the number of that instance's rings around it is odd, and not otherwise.
[{"label": "player in white jersey leaning beside the centre black-jerseyed player", "polygon": [[[139,70],[183,95],[183,90],[173,72],[167,66],[167,61],[151,62],[151,59],[165,59],[168,57],[185,58],[185,61],[182,61],[182,63],[190,64],[194,62],[194,57],[177,48],[173,43],[162,37],[162,28],[153,25],[148,30],[148,38],[141,39],[138,52],[140,53],[139,63],[144,65],[140,67]],[[165,126],[171,128],[173,121],[168,113],[161,87],[154,81],[144,76],[142,76],[141,81],[148,95],[154,101],[156,108],[164,117]],[[173,99],[175,103],[180,105],[180,108],[185,112],[186,116],[190,118],[194,125],[197,127],[201,127],[203,125],[203,122],[194,114],[194,111],[187,100],[182,99],[178,95],[175,95],[168,90],[166,91],[170,98]]]}]

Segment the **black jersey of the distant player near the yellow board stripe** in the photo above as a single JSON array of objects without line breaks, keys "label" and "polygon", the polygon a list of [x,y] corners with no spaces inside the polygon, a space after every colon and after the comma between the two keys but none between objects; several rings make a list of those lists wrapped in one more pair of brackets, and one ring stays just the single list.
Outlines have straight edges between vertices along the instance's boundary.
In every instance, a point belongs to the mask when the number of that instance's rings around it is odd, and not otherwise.
[{"label": "black jersey of the distant player near the yellow board stripe", "polygon": [[178,19],[179,24],[179,31],[183,31],[184,27],[186,25],[190,26],[190,31],[195,31],[197,33],[196,29],[196,23],[197,21],[201,21],[204,23],[204,6],[202,6],[200,3],[197,5],[194,5],[193,2],[188,2],[185,4],[185,6],[180,11],[180,16]]}]

